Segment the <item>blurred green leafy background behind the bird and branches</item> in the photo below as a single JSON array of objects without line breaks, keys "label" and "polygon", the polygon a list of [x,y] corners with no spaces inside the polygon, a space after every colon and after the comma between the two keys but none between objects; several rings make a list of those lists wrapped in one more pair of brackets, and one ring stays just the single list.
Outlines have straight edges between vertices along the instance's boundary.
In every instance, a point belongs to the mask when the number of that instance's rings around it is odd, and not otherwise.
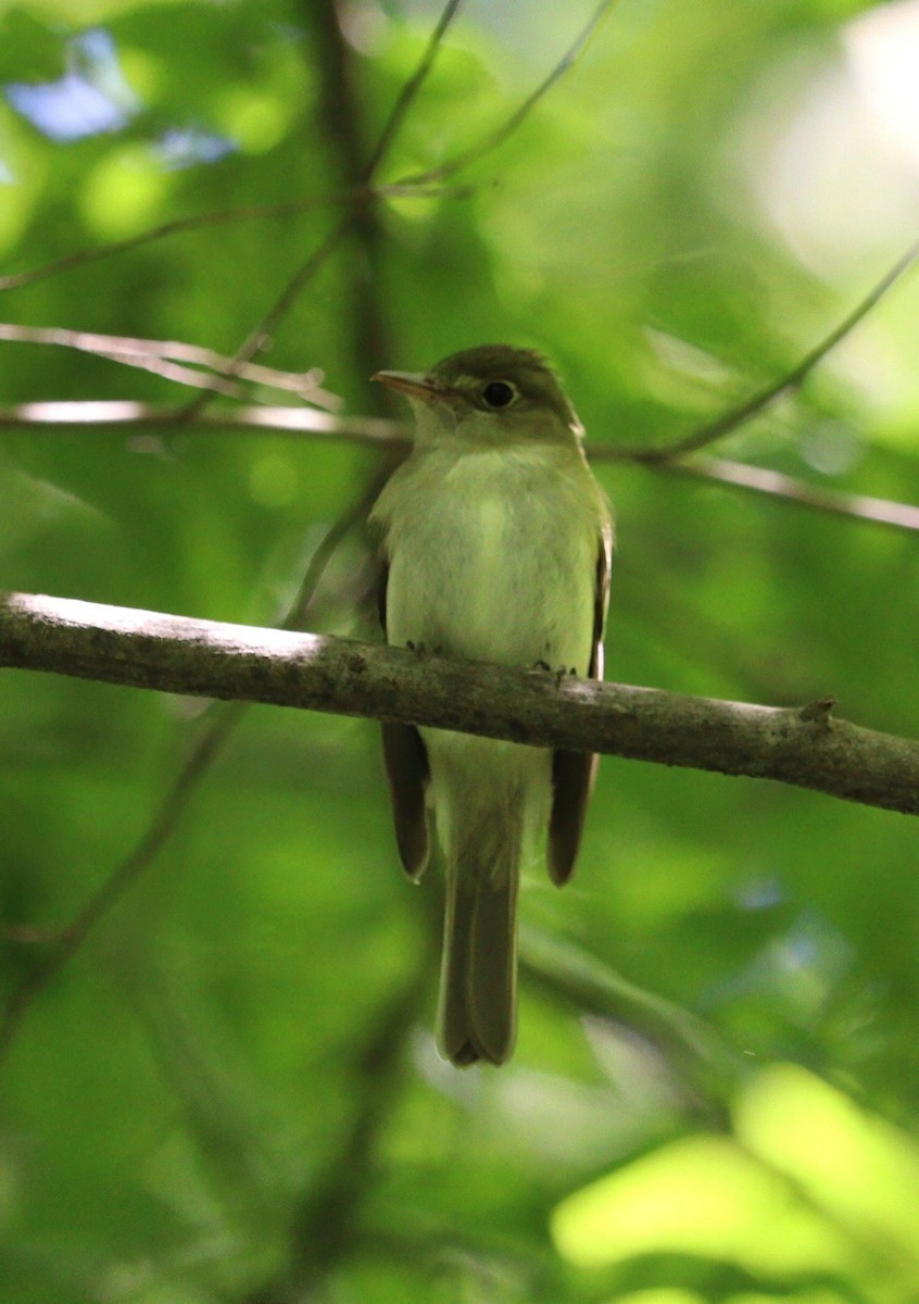
[{"label": "blurred green leafy background behind the bird and branches", "polygon": [[[357,210],[272,366],[321,368],[368,415],[378,366],[536,344],[594,443],[650,446],[790,369],[915,239],[915,3],[619,0],[484,149],[589,14],[461,10],[375,180],[465,166],[448,193]],[[0,271],[353,186],[437,18],[426,0],[7,7]],[[0,316],[232,353],[343,211],[164,235],[7,288]],[[907,284],[717,451],[919,502],[918,344]],[[3,351],[0,417],[192,396]],[[181,424],[0,433],[5,588],[252,623],[280,618],[383,460]],[[833,692],[915,734],[915,533],[597,469],[619,524],[613,678]],[[306,623],[372,636],[366,596],[352,529]],[[179,794],[7,1046],[4,1301],[919,1297],[909,819],[607,759],[574,884],[527,872],[516,1056],[456,1073],[431,1041],[439,885],[400,876],[373,725],[250,708],[188,768],[214,719],[4,675],[10,1000]]]}]

